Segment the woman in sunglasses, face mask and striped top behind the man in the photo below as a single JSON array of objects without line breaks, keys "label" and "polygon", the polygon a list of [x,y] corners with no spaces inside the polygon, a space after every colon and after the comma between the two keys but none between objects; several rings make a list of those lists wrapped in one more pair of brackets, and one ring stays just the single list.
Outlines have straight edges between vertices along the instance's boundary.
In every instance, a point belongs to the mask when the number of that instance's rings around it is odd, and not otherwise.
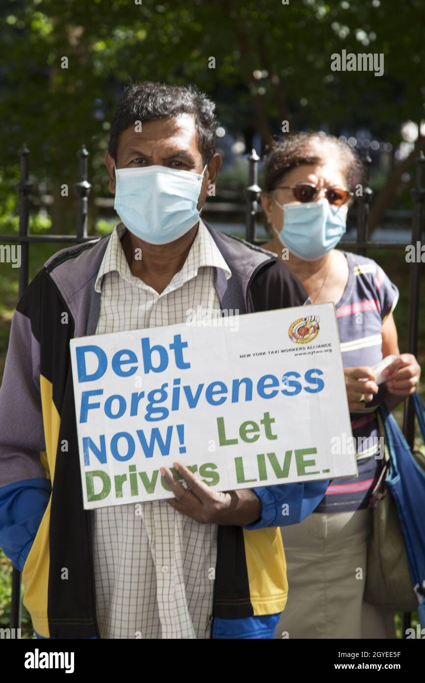
[{"label": "woman in sunglasses, face mask and striped top behind the man", "polygon": [[[357,446],[358,477],[333,479],[304,522],[281,527],[289,598],[276,638],[395,638],[393,614],[362,600],[368,503],[383,464],[375,411],[381,401],[392,410],[413,393],[420,366],[398,350],[396,286],[375,261],[335,249],[362,186],[354,150],[336,137],[298,133],[267,151],[264,173],[261,201],[272,238],[263,248],[282,255],[312,303],[334,302],[353,437],[366,443]],[[372,368],[393,354],[378,386]]]}]

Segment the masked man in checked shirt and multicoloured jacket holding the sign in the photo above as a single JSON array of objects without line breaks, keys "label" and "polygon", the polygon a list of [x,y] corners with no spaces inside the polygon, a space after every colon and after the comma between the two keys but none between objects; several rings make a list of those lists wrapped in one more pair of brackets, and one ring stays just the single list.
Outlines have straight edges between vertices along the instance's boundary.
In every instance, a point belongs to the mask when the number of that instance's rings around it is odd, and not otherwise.
[{"label": "masked man in checked shirt and multicoloured jacket holding the sign", "polygon": [[[63,249],[18,303],[0,391],[0,544],[23,571],[38,637],[272,638],[287,600],[279,524],[303,520],[327,482],[215,492],[175,463],[175,499],[83,510],[69,342],[302,305],[270,253],[199,217],[216,182],[214,104],[142,83],[117,106],[106,153],[122,219]],[[205,359],[207,362],[207,359]],[[282,505],[289,516],[282,517]]]}]

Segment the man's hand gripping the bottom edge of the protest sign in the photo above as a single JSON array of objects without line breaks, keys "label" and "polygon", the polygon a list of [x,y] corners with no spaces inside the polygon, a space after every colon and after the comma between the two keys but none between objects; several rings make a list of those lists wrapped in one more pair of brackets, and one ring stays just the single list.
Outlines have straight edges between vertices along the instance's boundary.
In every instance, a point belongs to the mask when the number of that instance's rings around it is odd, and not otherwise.
[{"label": "man's hand gripping the bottom edge of the protest sign", "polygon": [[177,473],[186,482],[184,488],[168,467],[160,467],[160,473],[175,495],[167,499],[168,505],[186,514],[200,524],[245,526],[261,517],[261,502],[249,488],[237,491],[214,491],[179,462],[173,462]]}]

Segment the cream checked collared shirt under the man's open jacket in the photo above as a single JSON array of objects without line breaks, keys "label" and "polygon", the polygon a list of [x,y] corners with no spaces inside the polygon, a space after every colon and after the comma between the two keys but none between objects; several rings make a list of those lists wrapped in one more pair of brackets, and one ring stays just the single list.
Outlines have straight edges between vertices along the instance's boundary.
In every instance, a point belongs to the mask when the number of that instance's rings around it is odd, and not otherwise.
[{"label": "cream checked collared shirt under the man's open jacket", "polygon": [[[201,220],[184,266],[161,294],[132,275],[121,246],[125,232],[123,223],[115,227],[96,279],[96,334],[186,322],[198,307],[220,311],[214,269],[222,268],[227,279],[231,271]],[[199,524],[165,501],[139,505],[138,514],[134,503],[95,511],[101,637],[209,638],[216,525]]]}]

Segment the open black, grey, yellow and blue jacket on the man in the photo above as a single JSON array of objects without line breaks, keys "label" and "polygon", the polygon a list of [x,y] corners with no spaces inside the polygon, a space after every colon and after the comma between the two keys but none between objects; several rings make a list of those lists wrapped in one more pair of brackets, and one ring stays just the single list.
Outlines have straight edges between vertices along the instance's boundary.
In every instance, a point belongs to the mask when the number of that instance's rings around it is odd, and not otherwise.
[{"label": "open black, grey, yellow and blue jacket on the man", "polygon": [[[276,256],[207,227],[232,273],[226,280],[216,270],[222,309],[243,314],[308,303],[302,285]],[[27,287],[12,319],[0,389],[0,546],[23,572],[24,604],[42,637],[100,637],[94,514],[83,508],[69,346],[72,337],[96,332],[100,294],[94,285],[108,239],[62,249]],[[68,451],[61,449],[64,441]],[[264,617],[259,637],[267,637],[264,623],[282,612],[288,591],[278,525],[304,520],[327,484],[254,488],[261,519],[247,527],[218,527],[213,637],[232,637],[232,624],[240,619],[255,629],[254,616]],[[284,503],[289,515],[282,522]],[[68,581],[61,579],[63,567]],[[272,634],[276,619],[269,623]]]}]

